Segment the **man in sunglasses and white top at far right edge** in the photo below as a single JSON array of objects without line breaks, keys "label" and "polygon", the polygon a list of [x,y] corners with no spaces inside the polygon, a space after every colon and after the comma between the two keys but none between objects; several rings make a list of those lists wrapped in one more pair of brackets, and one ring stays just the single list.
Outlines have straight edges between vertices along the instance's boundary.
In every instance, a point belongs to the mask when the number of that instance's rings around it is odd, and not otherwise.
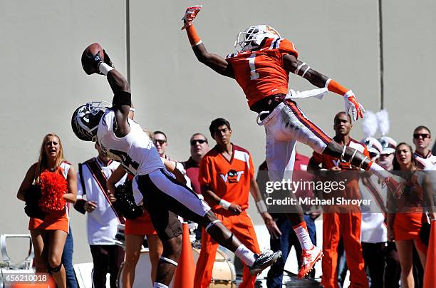
[{"label": "man in sunglasses and white top at far right edge", "polygon": [[413,144],[415,144],[415,157],[417,169],[423,170],[436,164],[436,156],[430,150],[432,133],[425,126],[417,126],[413,131]]}]

